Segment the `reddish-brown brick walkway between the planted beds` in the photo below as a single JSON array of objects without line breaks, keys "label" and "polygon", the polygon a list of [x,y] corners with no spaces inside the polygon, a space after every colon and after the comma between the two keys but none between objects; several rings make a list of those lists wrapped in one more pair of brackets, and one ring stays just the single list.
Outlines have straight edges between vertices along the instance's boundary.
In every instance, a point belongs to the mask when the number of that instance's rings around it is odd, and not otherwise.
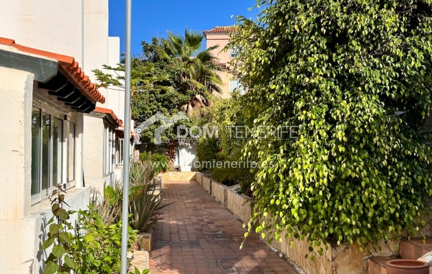
[{"label": "reddish-brown brick walkway between the planted beds", "polygon": [[196,182],[164,182],[163,197],[175,203],[156,227],[152,274],[296,273],[256,234],[240,250],[241,222]]}]

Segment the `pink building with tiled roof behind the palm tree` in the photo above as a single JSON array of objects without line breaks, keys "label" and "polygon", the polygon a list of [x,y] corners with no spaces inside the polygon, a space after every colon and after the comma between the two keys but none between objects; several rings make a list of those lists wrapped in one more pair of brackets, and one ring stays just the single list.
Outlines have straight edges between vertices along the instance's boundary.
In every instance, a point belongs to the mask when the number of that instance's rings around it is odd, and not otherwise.
[{"label": "pink building with tiled roof behind the palm tree", "polygon": [[[219,58],[219,63],[224,66],[228,66],[228,63],[232,58],[237,57],[237,51],[235,49],[226,50],[225,47],[230,42],[230,34],[234,31],[234,26],[227,27],[213,27],[210,30],[204,30],[204,37],[207,42],[207,49],[215,45],[219,45],[219,48],[214,49],[212,53]],[[231,92],[238,90],[241,94],[244,93],[243,86],[239,83],[238,79],[235,79],[230,73],[222,71],[217,73],[222,79],[222,98],[230,98]]]}]

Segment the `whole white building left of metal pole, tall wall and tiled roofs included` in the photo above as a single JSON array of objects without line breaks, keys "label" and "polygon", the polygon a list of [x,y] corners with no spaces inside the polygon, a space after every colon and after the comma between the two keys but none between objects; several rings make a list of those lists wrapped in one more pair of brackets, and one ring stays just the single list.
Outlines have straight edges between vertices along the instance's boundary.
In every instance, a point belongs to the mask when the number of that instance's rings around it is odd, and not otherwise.
[{"label": "whole white building left of metal pole, tall wall and tiled roofs included", "polygon": [[0,25],[0,273],[41,273],[52,186],[76,210],[121,175],[124,90],[92,72],[119,63],[120,41],[108,0],[10,1]]}]

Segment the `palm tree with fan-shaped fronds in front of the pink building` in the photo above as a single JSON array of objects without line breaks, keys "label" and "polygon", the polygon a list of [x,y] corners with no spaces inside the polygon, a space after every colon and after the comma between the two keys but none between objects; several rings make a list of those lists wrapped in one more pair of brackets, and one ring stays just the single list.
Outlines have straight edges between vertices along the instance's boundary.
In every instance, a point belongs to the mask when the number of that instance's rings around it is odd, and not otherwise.
[{"label": "palm tree with fan-shaped fronds in front of the pink building", "polygon": [[190,100],[180,106],[180,110],[191,114],[194,109],[208,105],[208,95],[221,92],[222,84],[217,71],[223,68],[217,57],[211,53],[219,46],[200,51],[204,36],[184,29],[184,37],[168,33],[168,38],[161,40],[165,47],[163,55],[180,71],[180,86],[190,95]]}]

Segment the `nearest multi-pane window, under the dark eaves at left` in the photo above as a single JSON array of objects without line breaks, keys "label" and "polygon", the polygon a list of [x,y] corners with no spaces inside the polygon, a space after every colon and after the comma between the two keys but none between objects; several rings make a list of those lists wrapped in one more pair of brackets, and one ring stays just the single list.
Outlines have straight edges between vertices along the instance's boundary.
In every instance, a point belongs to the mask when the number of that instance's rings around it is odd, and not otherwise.
[{"label": "nearest multi-pane window, under the dark eaves at left", "polygon": [[32,202],[62,183],[62,120],[41,108],[32,109]]}]

